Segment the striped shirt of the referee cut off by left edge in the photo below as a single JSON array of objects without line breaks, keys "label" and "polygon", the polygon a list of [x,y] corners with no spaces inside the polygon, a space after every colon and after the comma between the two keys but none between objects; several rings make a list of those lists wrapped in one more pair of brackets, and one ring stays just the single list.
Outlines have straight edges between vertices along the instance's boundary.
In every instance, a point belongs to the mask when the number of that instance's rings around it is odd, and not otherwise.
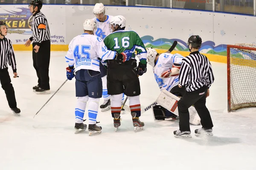
[{"label": "striped shirt of the referee cut off by left edge", "polygon": [[12,66],[14,73],[17,71],[12,42],[4,37],[0,39],[0,69],[7,68],[7,64]]}]

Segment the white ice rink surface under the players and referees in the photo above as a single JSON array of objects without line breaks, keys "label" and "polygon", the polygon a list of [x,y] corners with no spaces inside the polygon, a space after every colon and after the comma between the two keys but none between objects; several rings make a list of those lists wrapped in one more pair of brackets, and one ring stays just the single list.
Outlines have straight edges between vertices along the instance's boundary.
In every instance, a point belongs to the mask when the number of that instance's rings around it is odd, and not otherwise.
[{"label": "white ice rink surface under the players and referees", "polygon": [[[192,138],[177,139],[173,131],[178,121],[156,122],[151,110],[140,117],[145,127],[138,133],[134,133],[130,113],[121,115],[121,126],[115,132],[111,111],[99,110],[97,125],[102,126],[102,133],[88,136],[87,130],[74,134],[75,79],[66,82],[33,119],[67,79],[66,52],[51,53],[51,94],[46,95],[32,91],[37,85],[32,52],[15,54],[20,77],[11,79],[21,116],[13,115],[1,89],[0,170],[256,170],[256,108],[227,113],[226,64],[211,62],[215,82],[207,107],[214,136],[196,137],[194,130],[201,126],[190,125]],[[12,77],[11,68],[9,73]],[[160,94],[150,65],[140,83],[144,108]]]}]

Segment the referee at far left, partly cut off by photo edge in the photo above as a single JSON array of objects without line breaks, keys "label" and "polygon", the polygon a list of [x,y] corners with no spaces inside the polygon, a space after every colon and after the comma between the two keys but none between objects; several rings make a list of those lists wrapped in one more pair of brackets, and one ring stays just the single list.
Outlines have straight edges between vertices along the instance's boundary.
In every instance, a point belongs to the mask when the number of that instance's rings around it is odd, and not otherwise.
[{"label": "referee at far left, partly cut off by photo edge", "polygon": [[20,109],[17,108],[15,92],[8,72],[7,64],[12,66],[14,78],[17,77],[17,68],[12,42],[5,37],[7,35],[7,29],[8,26],[6,23],[0,21],[0,82],[3,90],[5,91],[9,107],[15,115],[20,116]]}]

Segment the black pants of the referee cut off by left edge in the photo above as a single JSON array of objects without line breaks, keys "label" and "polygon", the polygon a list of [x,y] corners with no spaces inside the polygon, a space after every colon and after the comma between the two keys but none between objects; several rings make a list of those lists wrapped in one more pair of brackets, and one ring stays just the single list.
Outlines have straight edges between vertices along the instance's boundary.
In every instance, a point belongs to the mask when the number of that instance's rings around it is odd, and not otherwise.
[{"label": "black pants of the referee cut off by left edge", "polygon": [[0,82],[3,90],[5,91],[9,107],[17,108],[15,92],[11,83],[11,78],[9,76],[8,67],[4,69],[0,69]]}]

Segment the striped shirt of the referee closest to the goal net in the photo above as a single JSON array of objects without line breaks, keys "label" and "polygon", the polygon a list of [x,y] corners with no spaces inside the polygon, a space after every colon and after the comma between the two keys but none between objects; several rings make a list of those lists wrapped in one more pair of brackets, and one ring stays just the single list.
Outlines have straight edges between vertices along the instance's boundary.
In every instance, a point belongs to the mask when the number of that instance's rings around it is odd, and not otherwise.
[{"label": "striped shirt of the referee closest to the goal net", "polygon": [[186,91],[195,91],[204,85],[209,88],[213,81],[212,65],[205,55],[195,51],[182,59],[179,84],[186,85]]}]

